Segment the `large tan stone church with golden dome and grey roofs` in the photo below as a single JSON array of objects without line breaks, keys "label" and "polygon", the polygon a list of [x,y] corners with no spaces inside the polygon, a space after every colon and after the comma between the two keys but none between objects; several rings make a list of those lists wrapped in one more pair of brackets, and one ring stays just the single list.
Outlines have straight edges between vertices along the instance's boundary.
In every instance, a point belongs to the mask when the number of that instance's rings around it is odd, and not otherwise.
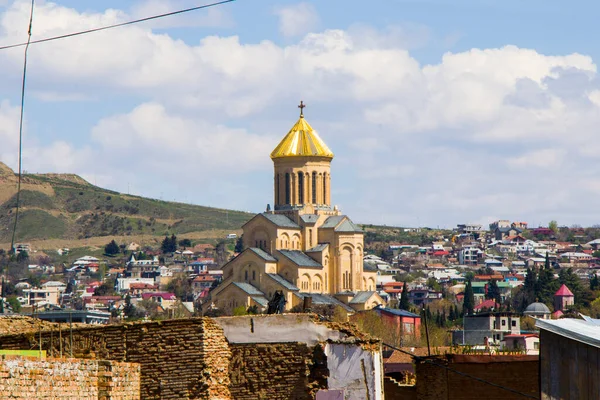
[{"label": "large tan stone church with golden dome and grey roofs", "polygon": [[333,153],[304,118],[271,153],[273,209],[243,227],[244,250],[223,266],[223,281],[208,306],[265,311],[276,292],[285,310],[336,305],[348,313],[384,304],[375,270],[363,266],[363,232],[331,205]]}]

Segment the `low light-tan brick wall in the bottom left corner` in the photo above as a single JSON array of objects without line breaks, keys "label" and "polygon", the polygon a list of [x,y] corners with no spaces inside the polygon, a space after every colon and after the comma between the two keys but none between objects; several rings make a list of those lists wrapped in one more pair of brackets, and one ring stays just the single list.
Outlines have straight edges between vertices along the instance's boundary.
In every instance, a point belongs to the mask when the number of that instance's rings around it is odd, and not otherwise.
[{"label": "low light-tan brick wall in the bottom left corner", "polygon": [[0,362],[3,399],[140,399],[140,368],[130,363],[7,357]]}]

